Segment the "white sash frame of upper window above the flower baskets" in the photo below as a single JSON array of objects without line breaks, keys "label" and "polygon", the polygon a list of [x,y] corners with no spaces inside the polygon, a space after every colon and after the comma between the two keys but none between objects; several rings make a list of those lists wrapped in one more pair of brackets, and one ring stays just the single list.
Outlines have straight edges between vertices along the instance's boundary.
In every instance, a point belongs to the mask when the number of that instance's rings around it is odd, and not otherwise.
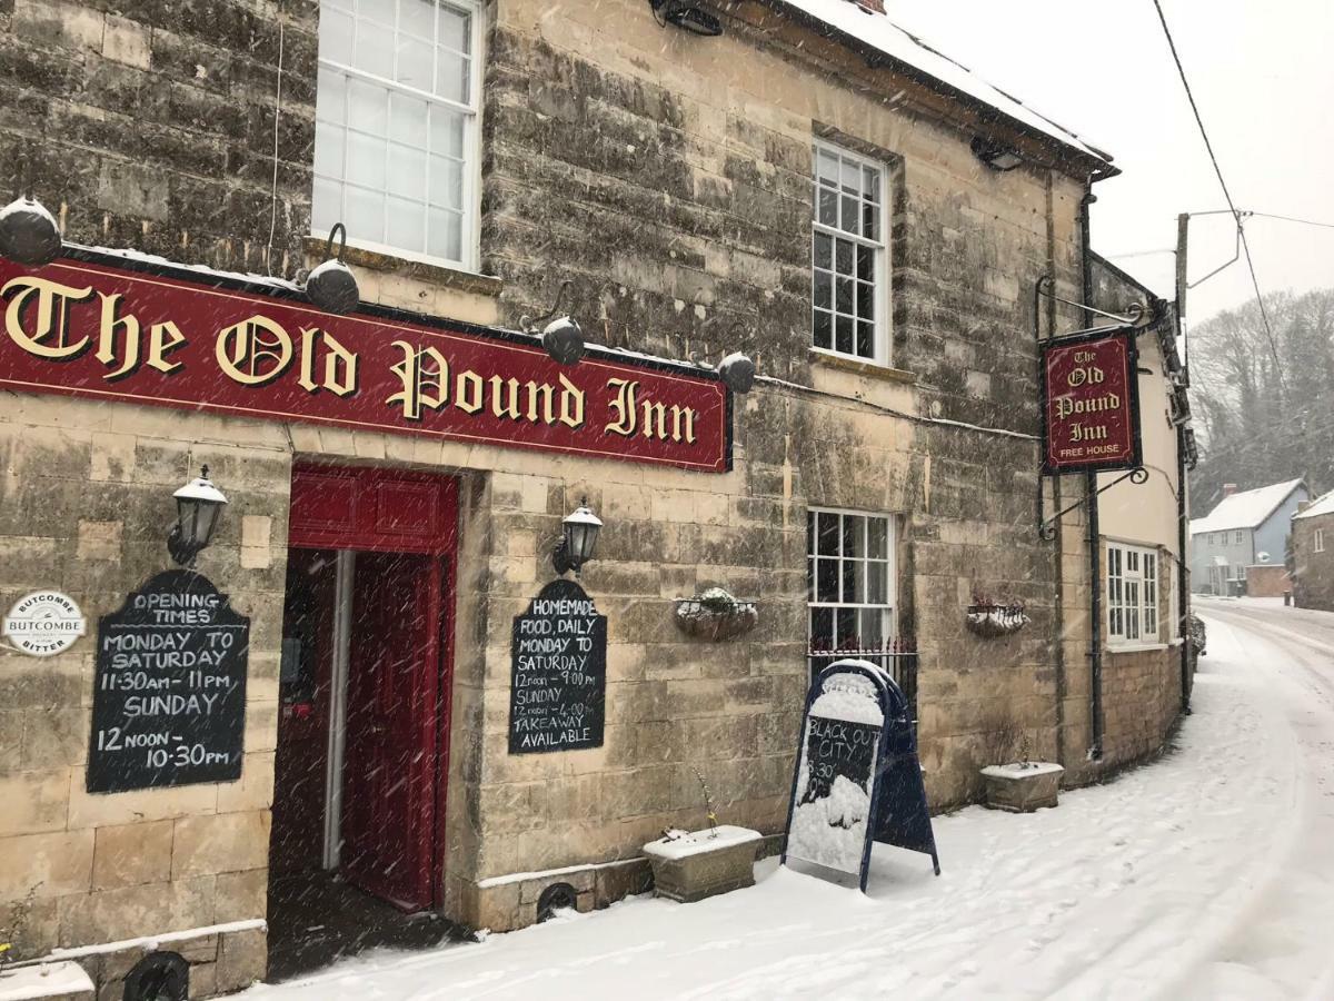
[{"label": "white sash frame of upper window above the flower baskets", "polygon": [[[847,230],[840,230],[835,226],[824,224],[819,220],[819,190],[820,190],[820,175],[819,175],[819,156],[820,153],[827,153],[839,157],[840,161],[854,163],[858,167],[866,170],[874,170],[879,175],[880,183],[880,202],[879,202],[879,215],[876,218],[876,228],[879,231],[879,239],[874,240],[859,234],[850,232]],[[810,344],[812,351],[818,351],[824,355],[832,355],[835,358],[848,358],[855,362],[863,362],[866,364],[891,364],[891,344],[892,338],[888,330],[890,318],[890,212],[888,206],[891,202],[890,191],[891,175],[888,164],[882,160],[875,160],[862,153],[852,152],[851,149],[836,145],[826,140],[815,139],[811,143],[811,323],[807,331],[810,338]],[[870,355],[856,354],[856,330],[852,330],[852,351],[839,351],[838,344],[838,271],[832,270],[834,263],[831,262],[831,274],[835,275],[835,280],[831,282],[830,288],[830,347],[819,347],[815,344],[815,238],[816,235],[826,235],[835,240],[848,240],[856,246],[871,247],[875,251],[875,288],[874,288],[874,311],[872,322],[875,324],[875,342],[871,347]],[[836,251],[831,251],[835,254]],[[855,292],[854,292],[855,299]],[[855,308],[855,304],[854,304]]]}]

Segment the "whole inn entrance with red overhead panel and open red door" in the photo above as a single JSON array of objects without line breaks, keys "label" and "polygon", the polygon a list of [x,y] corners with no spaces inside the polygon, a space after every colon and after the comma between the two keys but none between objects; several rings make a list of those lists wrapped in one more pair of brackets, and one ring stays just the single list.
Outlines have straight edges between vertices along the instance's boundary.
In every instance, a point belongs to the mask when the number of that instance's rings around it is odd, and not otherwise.
[{"label": "whole inn entrance with red overhead panel and open red door", "polygon": [[451,930],[431,909],[442,904],[452,487],[384,470],[293,475],[271,980]]}]

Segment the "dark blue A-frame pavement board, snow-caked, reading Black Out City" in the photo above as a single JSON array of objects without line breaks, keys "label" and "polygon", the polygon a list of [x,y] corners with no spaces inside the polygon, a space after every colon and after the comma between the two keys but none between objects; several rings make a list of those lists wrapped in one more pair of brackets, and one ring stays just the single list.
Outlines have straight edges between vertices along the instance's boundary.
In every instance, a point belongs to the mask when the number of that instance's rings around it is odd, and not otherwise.
[{"label": "dark blue A-frame pavement board, snow-caked, reading Black Out City", "polygon": [[928,854],[940,874],[908,702],[883,667],[835,661],[806,699],[782,862],[866,890],[872,842]]}]

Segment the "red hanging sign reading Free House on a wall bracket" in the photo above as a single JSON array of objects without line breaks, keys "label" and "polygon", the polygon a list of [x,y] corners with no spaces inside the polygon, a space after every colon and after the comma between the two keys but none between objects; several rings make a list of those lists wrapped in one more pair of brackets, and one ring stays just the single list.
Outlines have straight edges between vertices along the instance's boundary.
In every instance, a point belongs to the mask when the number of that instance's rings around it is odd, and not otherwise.
[{"label": "red hanging sign reading Free House on a wall bracket", "polygon": [[1042,471],[1131,470],[1141,464],[1135,330],[1041,342]]}]

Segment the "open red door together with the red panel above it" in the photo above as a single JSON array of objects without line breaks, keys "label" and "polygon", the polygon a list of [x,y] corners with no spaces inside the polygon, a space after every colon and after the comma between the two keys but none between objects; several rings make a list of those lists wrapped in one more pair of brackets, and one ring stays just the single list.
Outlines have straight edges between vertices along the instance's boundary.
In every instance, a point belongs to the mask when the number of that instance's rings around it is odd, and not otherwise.
[{"label": "open red door together with the red panel above it", "polygon": [[340,870],[404,910],[443,904],[458,484],[299,466],[288,546],[355,550]]}]

